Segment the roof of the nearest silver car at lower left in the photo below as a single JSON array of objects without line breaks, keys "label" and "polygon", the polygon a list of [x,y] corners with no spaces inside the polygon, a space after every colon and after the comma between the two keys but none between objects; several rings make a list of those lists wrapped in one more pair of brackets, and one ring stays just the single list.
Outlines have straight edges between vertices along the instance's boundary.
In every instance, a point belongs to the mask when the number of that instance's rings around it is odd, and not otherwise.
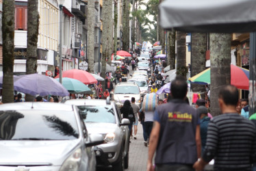
[{"label": "roof of the nearest silver car at lower left", "polygon": [[73,106],[63,103],[50,102],[22,102],[22,103],[6,103],[0,105],[1,110],[45,110],[45,111],[73,111]]}]

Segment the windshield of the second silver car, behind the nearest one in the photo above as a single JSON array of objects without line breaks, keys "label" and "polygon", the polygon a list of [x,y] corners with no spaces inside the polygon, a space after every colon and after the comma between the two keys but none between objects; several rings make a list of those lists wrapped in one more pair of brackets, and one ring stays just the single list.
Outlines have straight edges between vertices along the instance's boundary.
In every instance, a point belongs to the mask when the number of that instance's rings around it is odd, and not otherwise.
[{"label": "windshield of the second silver car, behind the nearest one", "polygon": [[114,109],[108,106],[78,106],[84,122],[116,123]]}]

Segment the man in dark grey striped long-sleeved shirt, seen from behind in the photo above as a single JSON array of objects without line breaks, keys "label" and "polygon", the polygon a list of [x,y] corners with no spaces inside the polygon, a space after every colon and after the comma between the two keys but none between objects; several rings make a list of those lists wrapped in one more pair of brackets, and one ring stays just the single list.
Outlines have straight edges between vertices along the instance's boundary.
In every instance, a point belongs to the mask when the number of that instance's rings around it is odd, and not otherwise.
[{"label": "man in dark grey striped long-sleeved shirt, seen from behind", "polygon": [[220,89],[218,104],[222,114],[208,124],[205,151],[194,163],[196,170],[203,170],[212,159],[214,170],[251,170],[256,151],[255,125],[236,111],[238,99],[235,86]]}]

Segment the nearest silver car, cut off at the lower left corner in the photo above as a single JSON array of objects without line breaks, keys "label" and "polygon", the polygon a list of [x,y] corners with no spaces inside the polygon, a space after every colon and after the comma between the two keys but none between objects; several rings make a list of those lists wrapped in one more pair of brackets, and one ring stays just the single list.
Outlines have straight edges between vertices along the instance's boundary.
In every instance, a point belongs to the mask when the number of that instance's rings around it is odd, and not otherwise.
[{"label": "nearest silver car, cut off at the lower left corner", "polygon": [[101,135],[88,135],[75,107],[56,103],[0,106],[0,170],[95,170],[91,146]]}]

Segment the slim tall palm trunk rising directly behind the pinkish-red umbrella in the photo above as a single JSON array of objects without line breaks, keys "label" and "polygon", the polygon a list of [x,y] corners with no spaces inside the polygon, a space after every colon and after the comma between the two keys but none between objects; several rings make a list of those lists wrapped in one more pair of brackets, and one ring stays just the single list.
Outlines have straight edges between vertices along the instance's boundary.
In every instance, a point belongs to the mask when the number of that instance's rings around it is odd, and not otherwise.
[{"label": "slim tall palm trunk rising directly behind the pinkish-red umbrella", "polygon": [[[94,0],[88,0],[88,72],[93,73],[94,66]],[[100,46],[100,45],[99,45]],[[100,47],[99,47],[100,48]]]}]

